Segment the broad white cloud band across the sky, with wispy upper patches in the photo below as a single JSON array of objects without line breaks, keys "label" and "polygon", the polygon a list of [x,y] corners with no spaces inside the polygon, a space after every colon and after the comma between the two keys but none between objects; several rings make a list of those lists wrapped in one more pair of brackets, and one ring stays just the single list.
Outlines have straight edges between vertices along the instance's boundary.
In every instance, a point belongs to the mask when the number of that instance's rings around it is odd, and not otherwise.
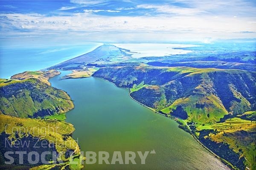
[{"label": "broad white cloud band across the sky, with wispy upper patches", "polygon": [[[76,1],[76,3],[86,6],[87,4],[104,3],[104,1]],[[0,28],[5,36],[72,34],[72,36],[77,35],[79,37],[84,35],[84,37],[91,37],[99,41],[168,41],[191,38],[204,40],[205,37],[256,37],[256,15],[250,15],[254,13],[251,8],[255,7],[248,7],[240,1],[237,1],[238,6],[233,3],[224,5],[226,2],[223,1],[209,3],[196,1],[196,5],[190,1],[187,3],[191,8],[172,5],[138,5],[137,9],[149,13],[149,15],[140,16],[102,16],[97,14],[101,11],[117,13],[120,10],[128,10],[128,8],[115,8],[116,10],[111,8],[109,10],[86,9],[84,13],[70,14],[69,16],[0,14],[0,17],[6,18],[0,23]],[[233,9],[227,8],[227,6],[233,6]],[[68,8],[71,7],[62,7],[62,10]],[[213,9],[222,10],[223,8],[227,8],[228,14],[222,12],[211,14],[209,12]],[[145,9],[152,9],[152,12]],[[161,14],[156,14],[155,11]],[[244,15],[243,12],[247,13],[248,16]]]}]

